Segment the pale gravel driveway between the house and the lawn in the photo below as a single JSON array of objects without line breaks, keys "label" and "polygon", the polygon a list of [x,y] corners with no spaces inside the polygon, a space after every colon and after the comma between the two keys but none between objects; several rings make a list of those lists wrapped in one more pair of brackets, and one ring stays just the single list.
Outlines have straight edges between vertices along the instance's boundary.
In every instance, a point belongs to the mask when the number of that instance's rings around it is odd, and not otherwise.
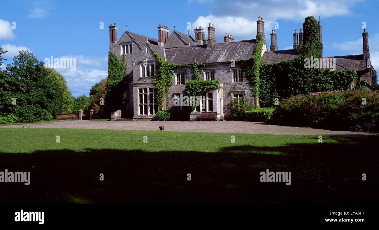
[{"label": "pale gravel driveway between the house and the lawn", "polygon": [[[254,134],[291,134],[291,135],[328,135],[328,136],[364,136],[372,133],[350,131],[331,131],[314,128],[301,128],[279,125],[266,125],[257,122],[243,121],[90,121],[70,120],[42,124],[29,124],[29,128],[85,128],[85,129],[114,129],[114,130],[159,130],[185,132],[213,133],[254,133]],[[0,128],[22,128],[23,125],[6,125]],[[376,134],[377,135],[377,134]]]}]

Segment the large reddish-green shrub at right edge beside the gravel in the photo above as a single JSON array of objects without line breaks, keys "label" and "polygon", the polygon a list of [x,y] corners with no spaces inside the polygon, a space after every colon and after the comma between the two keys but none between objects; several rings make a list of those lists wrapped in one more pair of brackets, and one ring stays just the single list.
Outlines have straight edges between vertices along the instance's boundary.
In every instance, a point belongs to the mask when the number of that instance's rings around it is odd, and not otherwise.
[{"label": "large reddish-green shrub at right edge beside the gravel", "polygon": [[379,94],[357,89],[290,97],[277,106],[272,121],[280,125],[378,132]]}]

